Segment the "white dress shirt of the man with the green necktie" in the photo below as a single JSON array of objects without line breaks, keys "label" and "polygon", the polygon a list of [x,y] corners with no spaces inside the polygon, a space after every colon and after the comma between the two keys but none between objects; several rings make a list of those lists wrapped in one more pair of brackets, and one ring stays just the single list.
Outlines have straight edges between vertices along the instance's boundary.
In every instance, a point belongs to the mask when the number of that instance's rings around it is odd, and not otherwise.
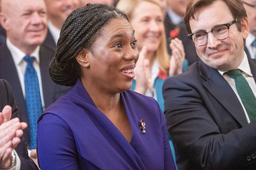
[{"label": "white dress shirt of the man with the green necktie", "polygon": [[[254,81],[254,78],[253,78],[253,74],[250,70],[250,65],[249,65],[249,62],[248,62],[248,58],[247,58],[247,55],[245,54],[244,52],[244,59],[243,61],[241,62],[241,64],[239,65],[238,69],[240,69],[242,72],[242,75],[244,76],[244,78],[246,79],[246,81],[248,82],[248,84],[250,85],[250,88],[252,89],[253,91],[253,94],[254,96],[256,96],[256,83]],[[228,75],[224,74],[224,72],[222,71],[219,71],[219,73],[224,77],[224,79],[227,80],[228,84],[231,86],[231,88],[233,89],[233,91],[235,92],[237,98],[239,99],[239,102],[244,110],[244,114],[246,116],[246,119],[247,119],[247,122],[250,123],[250,119],[249,119],[249,116],[244,108],[244,105],[242,103],[242,100],[236,90],[236,83],[235,83],[235,80],[230,78]]]}]

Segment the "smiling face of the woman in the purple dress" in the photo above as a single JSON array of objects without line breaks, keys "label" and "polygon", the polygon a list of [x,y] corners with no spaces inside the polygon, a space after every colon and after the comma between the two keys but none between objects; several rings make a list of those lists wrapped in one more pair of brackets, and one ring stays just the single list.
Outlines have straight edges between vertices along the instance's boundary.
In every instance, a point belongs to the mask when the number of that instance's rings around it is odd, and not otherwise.
[{"label": "smiling face of the woman in the purple dress", "polygon": [[131,88],[139,54],[134,29],[124,18],[112,19],[101,28],[99,37],[87,50],[89,67],[83,77],[95,88],[116,94]]}]

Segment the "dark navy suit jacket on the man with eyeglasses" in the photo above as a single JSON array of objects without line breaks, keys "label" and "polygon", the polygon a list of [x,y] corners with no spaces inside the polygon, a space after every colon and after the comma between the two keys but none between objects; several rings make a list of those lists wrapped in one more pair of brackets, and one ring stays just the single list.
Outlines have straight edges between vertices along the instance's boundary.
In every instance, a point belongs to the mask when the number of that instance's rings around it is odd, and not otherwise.
[{"label": "dark navy suit jacket on the man with eyeglasses", "polygon": [[[248,59],[255,79],[256,60]],[[194,63],[166,80],[163,97],[178,169],[256,169],[256,121],[247,123],[236,94],[216,69]]]}]

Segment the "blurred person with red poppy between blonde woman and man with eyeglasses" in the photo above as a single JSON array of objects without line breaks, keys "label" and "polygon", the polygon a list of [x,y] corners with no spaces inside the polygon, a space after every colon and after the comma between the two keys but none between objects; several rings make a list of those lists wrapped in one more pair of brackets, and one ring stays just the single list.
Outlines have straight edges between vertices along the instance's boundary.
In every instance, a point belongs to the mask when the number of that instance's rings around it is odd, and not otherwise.
[{"label": "blurred person with red poppy between blonde woman and man with eyeglasses", "polygon": [[185,57],[189,61],[189,65],[193,62],[198,61],[199,58],[195,51],[195,45],[188,38],[188,33],[186,31],[183,17],[186,12],[186,6],[189,0],[167,0],[167,11],[164,20],[166,40],[167,40],[167,50],[169,54],[172,54],[172,49],[169,48],[169,43],[175,37],[182,40]]}]

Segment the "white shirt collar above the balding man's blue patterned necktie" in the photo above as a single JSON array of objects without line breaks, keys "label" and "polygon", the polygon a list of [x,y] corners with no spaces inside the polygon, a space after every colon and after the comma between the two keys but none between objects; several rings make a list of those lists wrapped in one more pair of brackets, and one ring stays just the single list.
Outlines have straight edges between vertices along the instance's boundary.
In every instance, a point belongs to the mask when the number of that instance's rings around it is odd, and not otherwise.
[{"label": "white shirt collar above the balding man's blue patterned necktie", "polygon": [[[17,48],[15,45],[13,45],[8,38],[6,39],[6,45],[12,54],[12,58],[14,60],[15,65],[19,65],[20,62],[23,61],[23,58],[26,56],[26,54],[23,51],[21,51],[19,48]],[[30,54],[30,56],[35,57],[38,64],[40,63],[39,50],[40,50],[40,45],[38,45],[37,48],[35,48],[35,51],[32,54]]]}]

